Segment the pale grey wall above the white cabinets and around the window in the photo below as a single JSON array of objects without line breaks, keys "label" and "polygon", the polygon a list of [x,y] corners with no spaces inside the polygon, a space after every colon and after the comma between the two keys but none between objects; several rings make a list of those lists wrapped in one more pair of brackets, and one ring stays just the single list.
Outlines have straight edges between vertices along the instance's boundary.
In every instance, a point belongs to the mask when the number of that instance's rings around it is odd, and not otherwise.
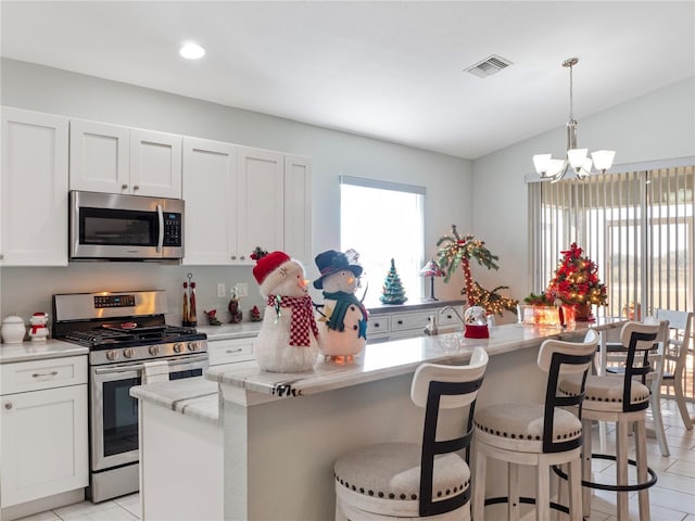
[{"label": "pale grey wall above the white cabinets and around the window", "polygon": [[[462,231],[472,229],[469,161],[26,62],[3,59],[0,65],[3,105],[313,157],[314,254],[340,246],[340,175],[426,186],[426,255],[437,251],[437,240],[452,223]],[[301,260],[313,278],[314,259]],[[54,293],[157,288],[167,291],[170,310],[180,315],[179,292],[189,271],[198,281],[199,320],[202,309],[213,307],[223,320],[227,317],[227,300],[216,296],[217,282],[249,283],[250,297],[242,301],[247,314],[260,304],[251,268],[73,263],[66,268],[2,268],[0,312],[27,318],[50,310]],[[458,296],[463,285],[458,279],[438,284],[440,297]]]}]

